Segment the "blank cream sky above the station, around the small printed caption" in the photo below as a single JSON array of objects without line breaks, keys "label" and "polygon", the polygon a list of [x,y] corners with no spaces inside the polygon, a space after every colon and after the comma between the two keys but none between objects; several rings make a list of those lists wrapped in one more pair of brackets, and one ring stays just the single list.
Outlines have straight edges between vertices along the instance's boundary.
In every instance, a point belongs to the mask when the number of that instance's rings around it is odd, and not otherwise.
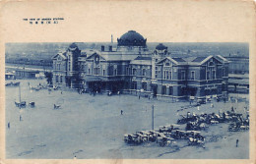
[{"label": "blank cream sky above the station, around the small printed caption", "polygon": [[[247,42],[253,5],[242,1],[62,1],[9,2],[3,6],[9,42],[114,41],[136,30],[149,42]],[[63,18],[54,25],[24,19]]]}]

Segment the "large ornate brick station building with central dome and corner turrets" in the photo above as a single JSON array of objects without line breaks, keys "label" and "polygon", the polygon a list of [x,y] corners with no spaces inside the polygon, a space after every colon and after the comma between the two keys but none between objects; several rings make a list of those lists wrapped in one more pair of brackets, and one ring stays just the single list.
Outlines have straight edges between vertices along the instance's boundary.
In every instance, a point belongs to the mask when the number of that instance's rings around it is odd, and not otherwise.
[{"label": "large ornate brick station building with central dome and corner turrets", "polygon": [[81,51],[72,43],[52,58],[53,84],[173,99],[226,94],[228,61],[221,55],[174,58],[163,44],[151,52],[146,43],[134,30],[117,39],[116,49]]}]

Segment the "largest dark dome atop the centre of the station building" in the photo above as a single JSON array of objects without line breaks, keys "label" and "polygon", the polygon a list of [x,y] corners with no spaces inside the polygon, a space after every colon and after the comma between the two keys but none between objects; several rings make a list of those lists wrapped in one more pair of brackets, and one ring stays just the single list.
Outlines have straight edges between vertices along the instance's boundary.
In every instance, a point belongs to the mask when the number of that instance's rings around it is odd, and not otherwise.
[{"label": "largest dark dome atop the centre of the station building", "polygon": [[146,46],[147,39],[136,32],[135,30],[129,30],[124,33],[120,38],[117,38],[118,46]]}]

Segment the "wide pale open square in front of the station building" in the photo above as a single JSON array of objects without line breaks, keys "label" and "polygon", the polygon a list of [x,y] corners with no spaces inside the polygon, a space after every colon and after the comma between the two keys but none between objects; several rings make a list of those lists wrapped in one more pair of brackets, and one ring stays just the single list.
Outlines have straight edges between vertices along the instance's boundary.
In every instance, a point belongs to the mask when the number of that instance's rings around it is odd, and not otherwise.
[{"label": "wide pale open square in front of the station building", "polygon": [[[18,80],[17,80],[18,81]],[[189,102],[167,103],[133,95],[96,96],[76,91],[30,90],[45,80],[22,80],[22,100],[35,102],[21,110],[19,87],[6,88],[6,158],[165,158],[165,159],[246,159],[249,158],[249,132],[228,132],[228,124],[210,126],[206,148],[187,146],[177,140],[176,145],[161,147],[157,143],[131,146],[123,141],[124,134],[152,129],[152,105],[155,105],[155,129],[175,124],[179,115],[191,113],[218,113],[231,106],[245,117],[245,102],[207,103],[177,112]],[[61,105],[53,109],[54,104]],[[120,111],[123,110],[123,115]],[[22,121],[20,121],[20,116]],[[10,122],[10,129],[7,124]],[[238,147],[235,147],[236,139]]]}]

